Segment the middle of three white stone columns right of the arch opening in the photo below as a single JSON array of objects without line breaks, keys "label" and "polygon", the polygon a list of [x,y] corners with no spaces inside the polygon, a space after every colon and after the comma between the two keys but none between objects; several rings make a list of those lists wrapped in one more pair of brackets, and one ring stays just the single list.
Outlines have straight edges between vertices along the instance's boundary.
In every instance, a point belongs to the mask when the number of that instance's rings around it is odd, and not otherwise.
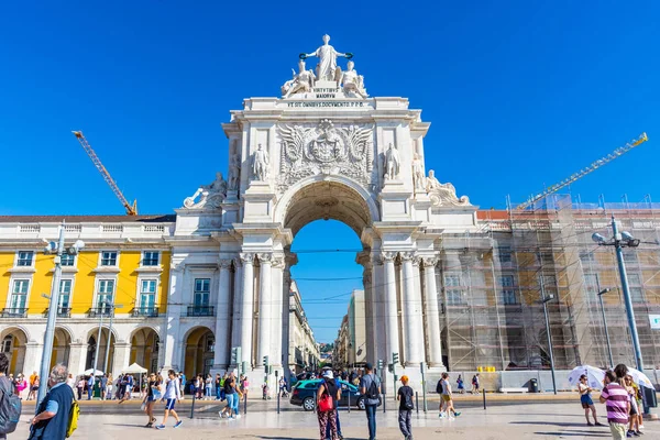
[{"label": "middle of three white stone columns right of the arch opening", "polygon": [[[415,288],[419,268],[414,265],[415,253],[402,252],[402,276],[404,280],[404,321],[406,326],[406,366],[416,366],[424,361],[424,322],[421,320],[421,295]],[[417,271],[415,271],[417,270]],[[417,272],[417,273],[416,273]]]}]

